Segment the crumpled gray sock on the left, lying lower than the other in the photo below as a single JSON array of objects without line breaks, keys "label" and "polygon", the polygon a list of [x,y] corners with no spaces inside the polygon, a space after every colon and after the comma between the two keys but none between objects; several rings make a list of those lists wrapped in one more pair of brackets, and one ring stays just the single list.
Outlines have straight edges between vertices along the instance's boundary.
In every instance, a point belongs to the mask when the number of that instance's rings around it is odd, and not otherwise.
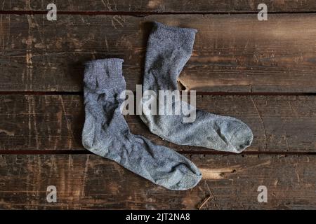
[{"label": "crumpled gray sock on the left, lying lower than the other", "polygon": [[123,60],[87,62],[84,71],[86,118],[82,144],[89,151],[114,160],[145,179],[171,190],[193,188],[202,179],[199,169],[183,155],[131,134],[120,106],[126,89]]}]

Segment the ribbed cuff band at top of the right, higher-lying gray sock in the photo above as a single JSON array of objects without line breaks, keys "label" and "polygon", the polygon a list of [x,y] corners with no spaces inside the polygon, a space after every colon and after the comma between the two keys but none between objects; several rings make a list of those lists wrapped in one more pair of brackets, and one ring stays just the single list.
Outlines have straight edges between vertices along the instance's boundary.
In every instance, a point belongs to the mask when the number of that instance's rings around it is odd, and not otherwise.
[{"label": "ribbed cuff band at top of the right, higher-lying gray sock", "polygon": [[173,27],[164,25],[161,22],[154,22],[151,35],[162,38],[176,38],[187,42],[194,41],[196,33],[197,29]]}]

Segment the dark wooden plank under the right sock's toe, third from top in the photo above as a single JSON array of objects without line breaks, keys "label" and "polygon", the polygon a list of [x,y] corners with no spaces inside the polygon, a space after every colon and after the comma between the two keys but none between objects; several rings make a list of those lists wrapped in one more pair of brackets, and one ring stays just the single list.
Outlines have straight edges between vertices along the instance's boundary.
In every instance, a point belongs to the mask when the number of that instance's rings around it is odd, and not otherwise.
[{"label": "dark wooden plank under the right sock's toe, third from top", "polygon": [[[0,95],[0,150],[81,150],[84,105],[76,95]],[[315,96],[197,96],[197,107],[243,120],[254,132],[247,151],[315,152]],[[150,134],[138,116],[126,116],[134,134],[177,151],[208,151],[177,146]]]}]

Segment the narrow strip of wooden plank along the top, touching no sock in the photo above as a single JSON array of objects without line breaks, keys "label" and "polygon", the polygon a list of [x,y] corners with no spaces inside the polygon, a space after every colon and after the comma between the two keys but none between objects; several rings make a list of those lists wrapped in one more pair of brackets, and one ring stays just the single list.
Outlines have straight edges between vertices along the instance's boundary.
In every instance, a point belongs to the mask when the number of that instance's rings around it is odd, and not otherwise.
[{"label": "narrow strip of wooden plank along the top, touching no sock", "polygon": [[62,0],[1,0],[1,10],[46,10],[48,3],[55,3],[58,11],[98,11],[98,12],[161,12],[161,13],[217,13],[217,12],[256,12],[259,3],[265,3],[269,12],[299,12],[315,11],[316,3],[313,0],[200,0],[200,1],[117,1],[97,0],[71,1]]}]

